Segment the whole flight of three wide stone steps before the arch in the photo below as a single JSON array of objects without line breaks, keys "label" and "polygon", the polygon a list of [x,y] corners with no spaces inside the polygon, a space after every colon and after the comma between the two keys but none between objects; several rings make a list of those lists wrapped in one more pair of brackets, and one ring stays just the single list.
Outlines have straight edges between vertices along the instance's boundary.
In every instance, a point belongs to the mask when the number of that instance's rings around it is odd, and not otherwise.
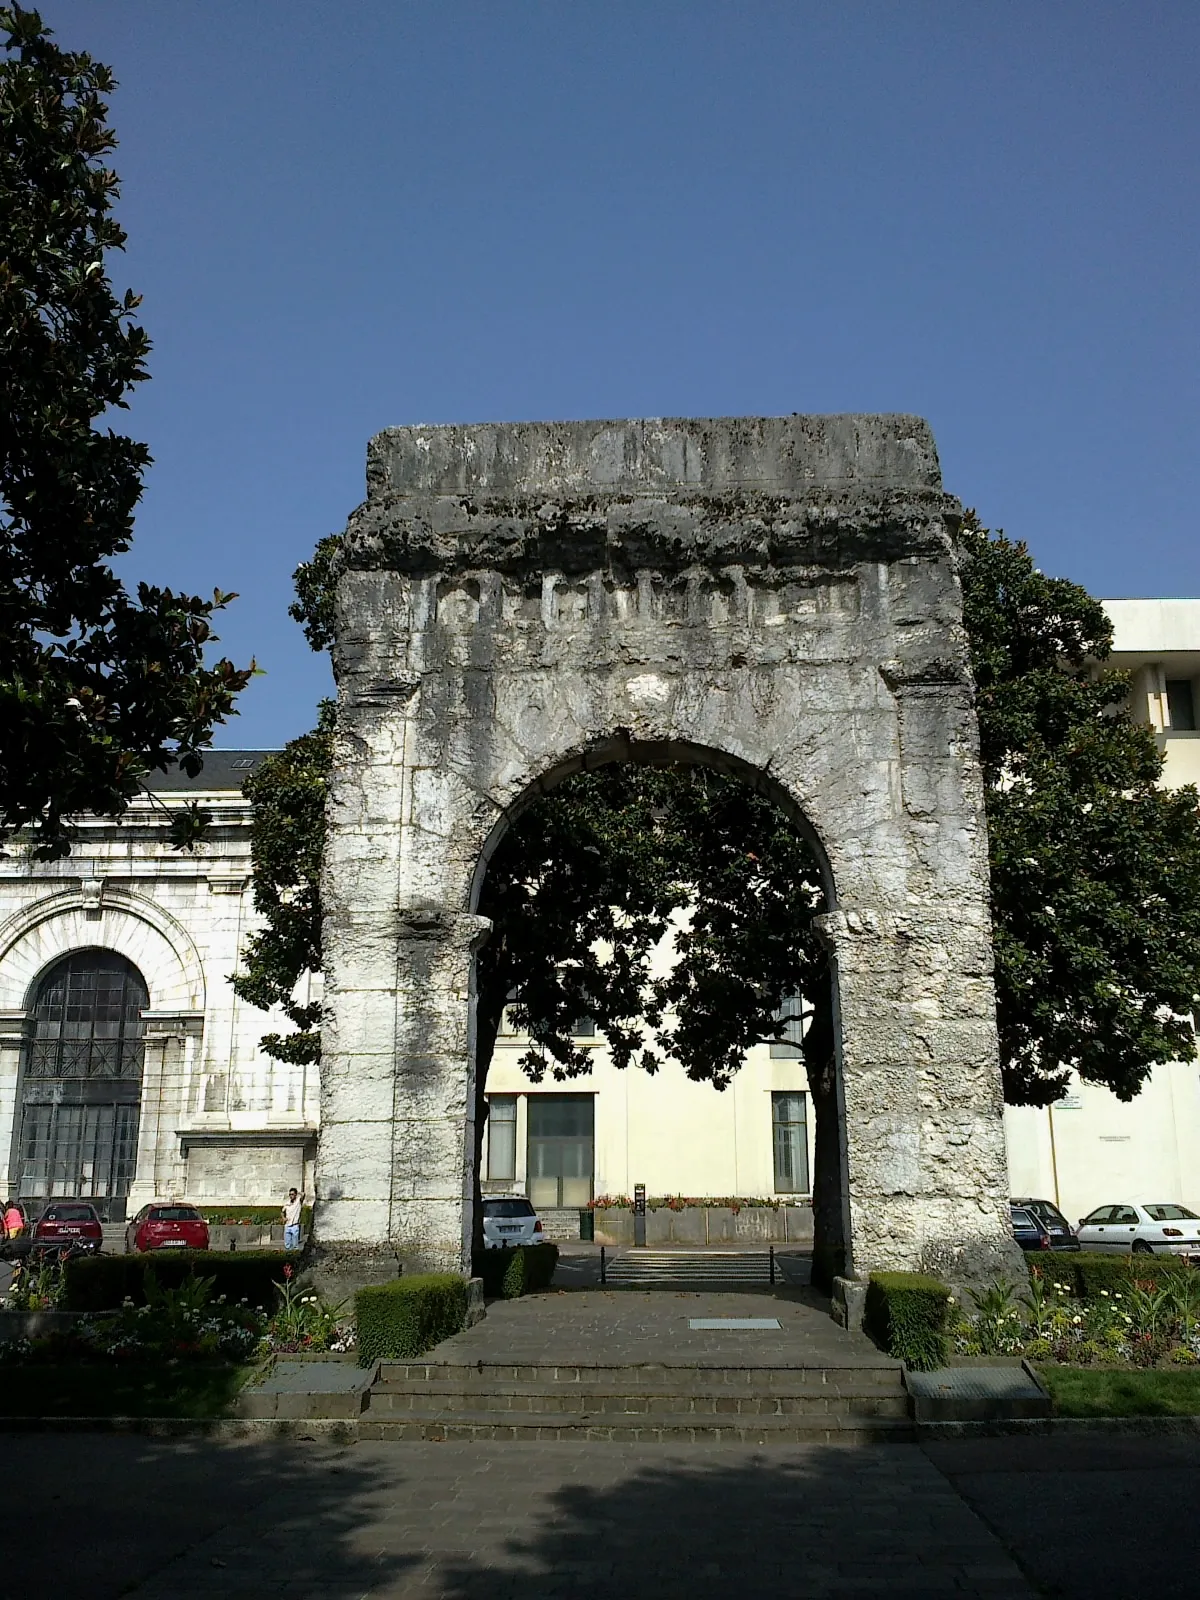
[{"label": "whole flight of three wide stone steps before the arch", "polygon": [[894,1363],[854,1368],[384,1362],[360,1438],[912,1440]]}]

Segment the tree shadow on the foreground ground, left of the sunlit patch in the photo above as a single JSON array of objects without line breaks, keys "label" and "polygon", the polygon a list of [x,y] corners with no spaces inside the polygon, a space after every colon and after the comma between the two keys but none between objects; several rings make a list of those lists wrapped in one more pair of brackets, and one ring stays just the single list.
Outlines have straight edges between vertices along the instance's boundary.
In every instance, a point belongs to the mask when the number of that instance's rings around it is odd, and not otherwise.
[{"label": "tree shadow on the foreground ground, left of the sunlit patch", "polygon": [[0,1472],[21,1486],[0,1600],[282,1592],[341,1600],[386,1592],[421,1560],[360,1542],[394,1486],[354,1446],[8,1434]]}]

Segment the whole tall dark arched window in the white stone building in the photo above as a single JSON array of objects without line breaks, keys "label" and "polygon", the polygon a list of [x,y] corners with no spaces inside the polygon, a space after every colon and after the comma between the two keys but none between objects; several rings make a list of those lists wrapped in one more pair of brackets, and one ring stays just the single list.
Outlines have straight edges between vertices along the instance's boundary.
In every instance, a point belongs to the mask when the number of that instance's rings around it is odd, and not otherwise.
[{"label": "whole tall dark arched window in the white stone building", "polygon": [[13,1171],[21,1200],[91,1200],[120,1221],[138,1162],[146,979],[115,950],[74,950],[34,986]]}]

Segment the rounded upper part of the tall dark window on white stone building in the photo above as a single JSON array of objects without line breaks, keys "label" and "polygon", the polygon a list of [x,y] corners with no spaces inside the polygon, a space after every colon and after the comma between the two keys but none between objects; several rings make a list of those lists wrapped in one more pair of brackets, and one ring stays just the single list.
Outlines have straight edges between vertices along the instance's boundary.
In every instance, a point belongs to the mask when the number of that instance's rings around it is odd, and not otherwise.
[{"label": "rounded upper part of the tall dark window on white stone building", "polygon": [[142,974],[115,950],[66,955],[37,986],[26,1072],[35,1078],[139,1078],[149,1003]]}]

